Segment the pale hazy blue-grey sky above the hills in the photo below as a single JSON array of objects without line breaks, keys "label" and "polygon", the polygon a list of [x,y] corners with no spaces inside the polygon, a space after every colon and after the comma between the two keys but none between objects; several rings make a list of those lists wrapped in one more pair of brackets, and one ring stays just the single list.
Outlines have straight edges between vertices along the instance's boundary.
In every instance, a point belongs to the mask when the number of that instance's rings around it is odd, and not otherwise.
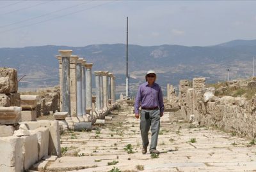
[{"label": "pale hazy blue-grey sky above the hills", "polygon": [[256,39],[255,7],[256,1],[0,1],[0,47],[125,43],[127,16],[131,44]]}]

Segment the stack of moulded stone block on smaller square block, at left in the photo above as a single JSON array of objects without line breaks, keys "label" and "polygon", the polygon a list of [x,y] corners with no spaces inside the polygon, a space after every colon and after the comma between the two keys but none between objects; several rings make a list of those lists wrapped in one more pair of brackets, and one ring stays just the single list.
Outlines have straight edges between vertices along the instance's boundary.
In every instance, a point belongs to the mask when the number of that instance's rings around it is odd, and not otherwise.
[{"label": "stack of moulded stone block on smaller square block, at left", "polygon": [[36,106],[38,102],[37,95],[21,95],[20,96],[20,106],[21,120],[22,121],[34,121],[36,120]]}]

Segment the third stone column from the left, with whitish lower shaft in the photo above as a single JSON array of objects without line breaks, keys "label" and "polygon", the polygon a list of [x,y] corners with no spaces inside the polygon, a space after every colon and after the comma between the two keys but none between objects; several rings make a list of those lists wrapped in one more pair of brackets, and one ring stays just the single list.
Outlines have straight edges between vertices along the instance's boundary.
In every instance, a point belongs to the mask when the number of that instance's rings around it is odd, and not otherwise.
[{"label": "third stone column from the left, with whitish lower shaft", "polygon": [[82,63],[83,59],[79,58],[76,64],[76,109],[79,120],[83,119]]}]

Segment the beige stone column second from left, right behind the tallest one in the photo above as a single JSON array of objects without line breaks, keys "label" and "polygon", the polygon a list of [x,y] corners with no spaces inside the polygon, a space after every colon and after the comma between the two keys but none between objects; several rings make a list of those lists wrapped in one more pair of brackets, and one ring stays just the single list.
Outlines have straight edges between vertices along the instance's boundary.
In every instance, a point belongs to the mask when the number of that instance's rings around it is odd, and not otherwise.
[{"label": "beige stone column second from left, right behind the tallest one", "polygon": [[[77,55],[70,57],[70,104],[71,117],[77,117],[77,82],[76,82],[76,63]],[[63,81],[64,82],[64,81]]]}]

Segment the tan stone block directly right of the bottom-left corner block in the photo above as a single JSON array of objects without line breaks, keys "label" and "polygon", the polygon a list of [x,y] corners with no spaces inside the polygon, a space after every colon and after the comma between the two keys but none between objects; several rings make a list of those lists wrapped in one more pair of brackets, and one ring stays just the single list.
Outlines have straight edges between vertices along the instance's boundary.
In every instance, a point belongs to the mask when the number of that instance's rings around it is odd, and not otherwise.
[{"label": "tan stone block directly right of the bottom-left corner block", "polygon": [[22,154],[24,157],[23,166],[24,169],[29,169],[33,164],[38,161],[38,143],[36,134],[30,136],[22,136]]}]

